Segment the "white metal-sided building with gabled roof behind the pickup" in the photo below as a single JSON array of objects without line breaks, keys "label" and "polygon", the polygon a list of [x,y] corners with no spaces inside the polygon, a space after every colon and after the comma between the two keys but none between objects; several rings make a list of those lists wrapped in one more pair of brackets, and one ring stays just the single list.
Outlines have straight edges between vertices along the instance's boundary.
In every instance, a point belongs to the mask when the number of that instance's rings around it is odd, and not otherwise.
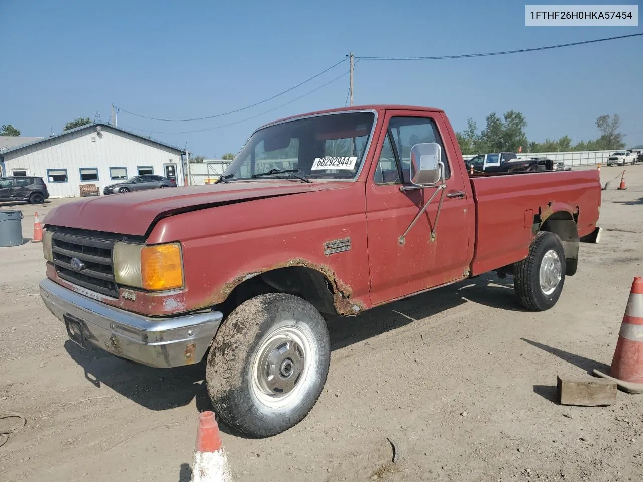
[{"label": "white metal-sided building with gabled roof behind the pickup", "polygon": [[174,177],[185,185],[186,151],[103,122],[0,150],[0,175],[44,179],[51,197],[80,195],[80,184],[108,184],[140,174]]}]

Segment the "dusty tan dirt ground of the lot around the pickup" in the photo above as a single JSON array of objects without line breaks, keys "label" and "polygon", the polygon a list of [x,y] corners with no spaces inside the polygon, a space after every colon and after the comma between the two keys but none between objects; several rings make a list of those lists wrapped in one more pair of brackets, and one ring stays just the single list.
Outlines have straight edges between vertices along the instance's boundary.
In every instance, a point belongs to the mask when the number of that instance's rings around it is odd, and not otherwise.
[{"label": "dusty tan dirt ground of the lot around the pickup", "polygon": [[[603,168],[603,182],[622,168]],[[643,274],[643,166],[603,192],[601,244],[548,312],[493,275],[331,323],[332,361],[310,415],[247,440],[222,426],[237,481],[643,480],[643,395],[559,406],[556,375],[607,368]],[[33,212],[21,209],[24,236]],[[44,307],[41,245],[0,248],[0,413],[27,418],[0,447],[2,481],[190,480],[203,366],[154,370],[82,351]],[[0,421],[0,429],[8,421]],[[385,468],[392,457],[396,462]]]}]

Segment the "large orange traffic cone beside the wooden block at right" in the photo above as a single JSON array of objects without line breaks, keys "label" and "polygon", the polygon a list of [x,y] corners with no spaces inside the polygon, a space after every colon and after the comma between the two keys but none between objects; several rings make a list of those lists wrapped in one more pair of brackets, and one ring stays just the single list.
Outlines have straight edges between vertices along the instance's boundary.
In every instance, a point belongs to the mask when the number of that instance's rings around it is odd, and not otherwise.
[{"label": "large orange traffic cone beside the wooden block at right", "polygon": [[629,393],[643,393],[643,277],[637,276],[629,292],[628,306],[620,324],[619,341],[611,361],[610,375],[594,375],[616,382]]}]

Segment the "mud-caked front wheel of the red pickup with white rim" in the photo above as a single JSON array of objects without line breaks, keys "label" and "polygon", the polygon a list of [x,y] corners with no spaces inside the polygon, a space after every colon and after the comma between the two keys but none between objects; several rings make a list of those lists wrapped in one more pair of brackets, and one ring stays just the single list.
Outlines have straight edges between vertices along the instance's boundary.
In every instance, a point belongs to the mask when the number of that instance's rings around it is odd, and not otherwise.
[{"label": "mud-caked front wheel of the red pickup with white rim", "polygon": [[273,436],[308,415],[330,361],[328,329],[311,303],[260,294],[219,328],[208,355],[208,393],[226,424],[246,436]]}]

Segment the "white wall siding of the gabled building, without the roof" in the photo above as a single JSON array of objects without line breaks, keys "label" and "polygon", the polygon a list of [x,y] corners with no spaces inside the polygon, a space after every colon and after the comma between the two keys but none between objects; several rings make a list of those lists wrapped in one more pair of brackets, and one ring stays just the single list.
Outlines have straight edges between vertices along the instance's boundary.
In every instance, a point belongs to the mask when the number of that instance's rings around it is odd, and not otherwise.
[{"label": "white wall siding of the gabled building, without the roof", "polygon": [[[91,126],[14,152],[0,153],[5,159],[4,175],[12,175],[12,170],[27,170],[28,175],[44,179],[51,197],[71,197],[79,195],[80,184],[96,184],[102,193],[108,184],[118,183],[111,179],[110,167],[125,167],[127,177],[132,177],[138,174],[139,166],[152,166],[154,174],[165,176],[164,165],[174,164],[177,185],[183,186],[181,151],[109,126],[100,127],[101,132]],[[98,181],[80,181],[80,168],[97,168]],[[66,169],[68,182],[51,183],[47,175],[51,169]]]}]

